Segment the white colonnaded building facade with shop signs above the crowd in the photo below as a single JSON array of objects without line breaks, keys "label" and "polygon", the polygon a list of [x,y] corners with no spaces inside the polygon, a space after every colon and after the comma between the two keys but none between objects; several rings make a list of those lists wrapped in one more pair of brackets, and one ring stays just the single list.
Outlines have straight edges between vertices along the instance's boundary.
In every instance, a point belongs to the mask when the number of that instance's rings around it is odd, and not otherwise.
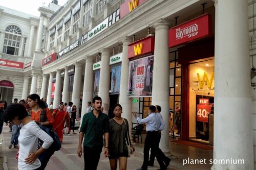
[{"label": "white colonnaded building facade with shop signs above the crowd", "polygon": [[212,169],[254,169],[253,1],[68,1],[15,23],[1,9],[1,100],[38,93],[53,108],[72,101],[82,117],[99,95],[109,116],[122,105],[131,128],[132,111],[159,105],[163,151],[171,135],[214,145],[216,160],[245,160]]}]

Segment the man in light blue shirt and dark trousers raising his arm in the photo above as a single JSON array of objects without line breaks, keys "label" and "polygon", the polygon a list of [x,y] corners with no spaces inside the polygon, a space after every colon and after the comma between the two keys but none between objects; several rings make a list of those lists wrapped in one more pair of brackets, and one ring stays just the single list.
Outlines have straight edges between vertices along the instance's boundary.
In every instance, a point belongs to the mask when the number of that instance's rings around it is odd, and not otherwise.
[{"label": "man in light blue shirt and dark trousers raising his arm", "polygon": [[137,170],[145,170],[145,169],[147,170],[150,149],[156,155],[157,161],[160,165],[160,170],[165,169],[163,160],[161,160],[160,158],[160,151],[159,151],[157,140],[156,140],[158,138],[159,130],[160,129],[163,130],[164,125],[161,125],[155,111],[156,111],[156,107],[150,106],[148,110],[149,115],[143,119],[139,118],[136,112],[133,112],[133,115],[135,116],[138,123],[146,123],[146,132],[147,132],[145,144],[144,144],[144,151],[143,151],[143,154],[144,154],[143,164],[141,168],[138,168]]}]

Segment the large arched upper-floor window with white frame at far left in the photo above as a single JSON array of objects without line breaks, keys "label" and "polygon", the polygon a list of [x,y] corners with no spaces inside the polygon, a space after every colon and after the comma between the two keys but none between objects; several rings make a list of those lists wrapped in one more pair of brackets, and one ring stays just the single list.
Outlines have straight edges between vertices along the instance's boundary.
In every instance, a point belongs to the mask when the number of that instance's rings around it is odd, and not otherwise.
[{"label": "large arched upper-floor window with white frame at far left", "polygon": [[8,26],[5,30],[3,53],[18,55],[20,42],[22,40],[22,31],[17,26]]}]

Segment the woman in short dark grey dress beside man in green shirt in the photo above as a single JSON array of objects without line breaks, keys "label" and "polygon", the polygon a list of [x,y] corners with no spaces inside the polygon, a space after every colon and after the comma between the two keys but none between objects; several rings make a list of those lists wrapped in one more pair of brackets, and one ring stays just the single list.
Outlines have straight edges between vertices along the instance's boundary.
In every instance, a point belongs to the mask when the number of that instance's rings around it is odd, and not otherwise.
[{"label": "woman in short dark grey dress beside man in green shirt", "polygon": [[[128,157],[128,149],[127,149],[126,143],[130,143],[129,124],[127,119],[121,117],[121,114],[122,114],[121,105],[116,104],[113,107],[113,110],[114,110],[115,117],[109,120],[110,168],[111,170],[116,170],[117,160],[118,160],[119,169],[125,170],[127,166],[127,157]],[[131,149],[135,151],[135,148],[132,145],[131,145]]]}]

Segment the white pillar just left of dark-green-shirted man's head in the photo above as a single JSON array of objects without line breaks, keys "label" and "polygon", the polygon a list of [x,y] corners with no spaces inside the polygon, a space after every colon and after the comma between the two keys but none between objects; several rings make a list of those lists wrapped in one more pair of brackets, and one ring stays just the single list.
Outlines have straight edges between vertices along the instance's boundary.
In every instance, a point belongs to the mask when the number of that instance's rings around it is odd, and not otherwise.
[{"label": "white pillar just left of dark-green-shirted man's head", "polygon": [[[86,69],[84,70],[83,92],[82,92],[82,111],[81,119],[86,113],[87,102],[93,99],[93,59],[86,59]],[[80,124],[81,125],[81,124]]]}]

